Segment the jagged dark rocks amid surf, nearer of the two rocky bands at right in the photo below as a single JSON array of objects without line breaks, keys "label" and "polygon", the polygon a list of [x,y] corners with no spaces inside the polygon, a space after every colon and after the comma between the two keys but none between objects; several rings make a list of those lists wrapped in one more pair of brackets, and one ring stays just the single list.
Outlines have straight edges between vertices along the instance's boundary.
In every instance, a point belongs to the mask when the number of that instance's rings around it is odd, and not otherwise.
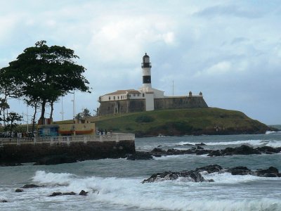
[{"label": "jagged dark rocks amid surf, nearer of the two rocky bands at right", "polygon": [[232,175],[252,175],[256,177],[281,177],[281,173],[275,167],[269,167],[266,170],[249,170],[247,167],[232,167],[223,169],[220,165],[207,165],[205,167],[197,167],[195,170],[185,170],[181,172],[162,172],[157,174],[152,174],[148,179],[144,179],[142,183],[149,183],[154,181],[164,181],[164,180],[175,180],[180,177],[188,178],[189,181],[202,182],[202,181],[214,181],[214,179],[204,179],[202,177],[202,172],[207,172],[208,174],[214,172],[229,172]]}]

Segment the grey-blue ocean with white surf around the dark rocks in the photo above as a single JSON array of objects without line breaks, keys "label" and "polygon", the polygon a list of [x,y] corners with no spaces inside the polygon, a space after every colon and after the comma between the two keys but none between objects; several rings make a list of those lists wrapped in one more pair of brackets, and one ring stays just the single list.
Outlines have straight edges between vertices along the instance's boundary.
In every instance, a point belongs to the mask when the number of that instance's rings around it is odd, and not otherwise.
[{"label": "grey-blue ocean with white surf around the dark rocks", "polygon": [[[281,146],[281,133],[230,136],[171,136],[136,139],[137,151],[187,149],[184,144],[205,143],[204,148]],[[214,182],[195,183],[185,178],[142,184],[157,172],[195,170],[205,165],[246,166],[251,170],[270,166],[281,171],[281,153],[233,155],[171,155],[154,160],[102,159],[61,165],[0,167],[0,210],[281,210],[281,178],[204,174]],[[15,189],[25,184],[39,188]],[[53,192],[88,196],[55,196]]]}]

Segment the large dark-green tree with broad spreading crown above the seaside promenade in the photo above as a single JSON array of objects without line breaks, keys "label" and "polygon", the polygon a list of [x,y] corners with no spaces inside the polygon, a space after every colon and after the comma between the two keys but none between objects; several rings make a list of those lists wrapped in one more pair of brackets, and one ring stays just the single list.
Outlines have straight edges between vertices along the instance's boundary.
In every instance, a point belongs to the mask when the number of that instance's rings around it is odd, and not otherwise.
[{"label": "large dark-green tree with broad spreading crown above the seaside promenade", "polygon": [[46,41],[37,41],[16,60],[9,63],[7,68],[0,71],[5,83],[13,84],[8,89],[10,96],[25,97],[25,102],[37,108],[41,104],[41,117],[44,120],[46,105],[53,103],[73,90],[89,91],[87,79],[82,75],[86,68],[77,65],[79,59],[72,49],[65,46],[47,46]]}]

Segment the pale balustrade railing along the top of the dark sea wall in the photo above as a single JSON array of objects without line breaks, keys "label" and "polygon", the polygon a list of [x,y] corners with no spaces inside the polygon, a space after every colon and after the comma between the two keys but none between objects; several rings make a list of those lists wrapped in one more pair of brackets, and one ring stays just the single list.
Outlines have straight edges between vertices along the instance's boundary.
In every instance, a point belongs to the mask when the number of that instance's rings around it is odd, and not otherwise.
[{"label": "pale balustrade railing along the top of the dark sea wall", "polygon": [[0,146],[6,144],[25,144],[25,143],[67,143],[88,141],[134,141],[135,134],[119,134],[112,133],[106,135],[95,136],[48,136],[48,137],[32,137],[32,138],[0,138]]}]

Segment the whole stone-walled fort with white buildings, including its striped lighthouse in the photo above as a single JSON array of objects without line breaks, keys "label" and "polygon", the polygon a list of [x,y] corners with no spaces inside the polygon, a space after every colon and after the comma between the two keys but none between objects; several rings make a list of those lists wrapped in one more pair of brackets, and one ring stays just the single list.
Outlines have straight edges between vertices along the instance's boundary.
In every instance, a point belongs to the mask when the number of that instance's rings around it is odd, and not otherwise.
[{"label": "whole stone-walled fort with white buildings, including its striped lighthouse", "polygon": [[190,91],[183,96],[164,96],[164,91],[152,88],[150,57],[145,53],[143,63],[143,86],[136,89],[117,90],[98,98],[98,115],[133,113],[139,111],[172,108],[207,108],[202,92],[193,95]]}]

